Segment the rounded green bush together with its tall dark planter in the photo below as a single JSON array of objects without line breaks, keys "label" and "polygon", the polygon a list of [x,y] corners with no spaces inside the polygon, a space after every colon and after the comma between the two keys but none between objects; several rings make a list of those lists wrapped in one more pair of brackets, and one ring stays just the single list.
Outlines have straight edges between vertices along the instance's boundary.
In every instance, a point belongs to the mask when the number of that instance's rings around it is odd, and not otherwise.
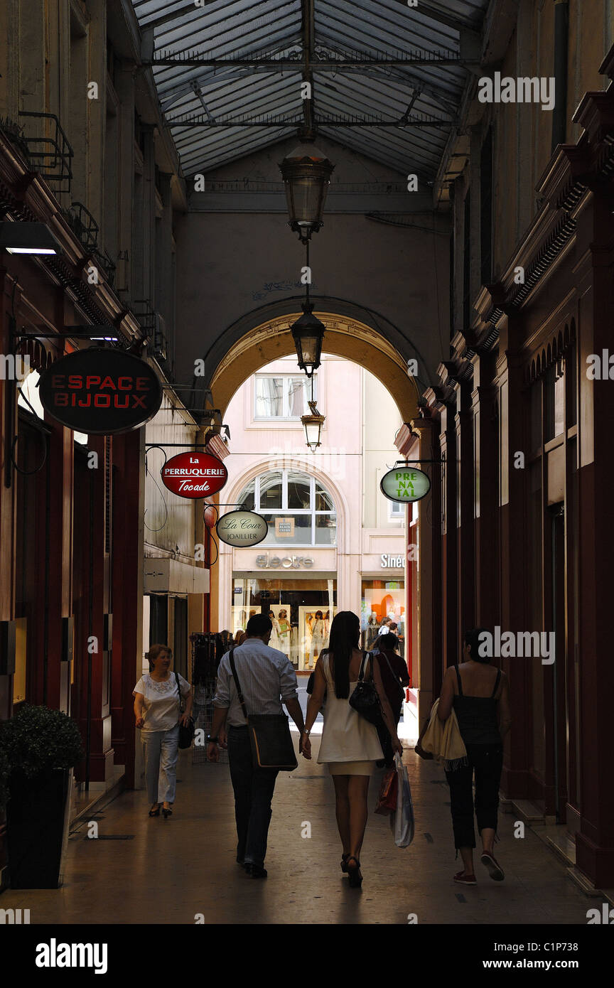
[{"label": "rounded green bush together with its tall dark planter", "polygon": [[7,836],[12,888],[57,888],[72,769],[83,757],[74,720],[25,703],[0,724],[8,762]]}]

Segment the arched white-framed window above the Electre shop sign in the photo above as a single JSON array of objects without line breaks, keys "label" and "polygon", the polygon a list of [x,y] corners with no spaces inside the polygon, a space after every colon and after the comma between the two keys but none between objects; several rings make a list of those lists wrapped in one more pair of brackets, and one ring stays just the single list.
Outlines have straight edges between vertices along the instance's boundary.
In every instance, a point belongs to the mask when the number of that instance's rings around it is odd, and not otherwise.
[{"label": "arched white-framed window above the Electre shop sign", "polygon": [[238,497],[243,511],[257,511],[269,523],[263,545],[335,545],[333,498],[315,477],[301,470],[267,470]]}]

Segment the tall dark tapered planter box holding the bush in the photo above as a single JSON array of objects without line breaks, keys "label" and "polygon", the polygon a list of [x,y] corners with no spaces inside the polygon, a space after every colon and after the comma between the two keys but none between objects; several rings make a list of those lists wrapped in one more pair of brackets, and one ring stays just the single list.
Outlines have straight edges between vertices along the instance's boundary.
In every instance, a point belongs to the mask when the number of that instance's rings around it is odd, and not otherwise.
[{"label": "tall dark tapered planter box holding the bush", "polygon": [[57,888],[68,839],[72,769],[13,776],[7,805],[11,888]]}]

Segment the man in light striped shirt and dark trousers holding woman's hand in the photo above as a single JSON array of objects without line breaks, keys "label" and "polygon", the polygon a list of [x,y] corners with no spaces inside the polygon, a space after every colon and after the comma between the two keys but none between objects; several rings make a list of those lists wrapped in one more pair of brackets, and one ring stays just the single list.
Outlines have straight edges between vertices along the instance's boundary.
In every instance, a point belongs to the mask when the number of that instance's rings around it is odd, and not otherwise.
[{"label": "man in light striped shirt and dark trousers holding woman's hand", "polygon": [[[250,617],[246,639],[233,652],[237,677],[249,714],[282,713],[281,703],[298,727],[305,724],[297,693],[296,673],[287,655],[269,648],[272,623],[267,615]],[[218,743],[228,741],[230,779],[235,793],[237,863],[253,878],[266,878],[265,856],[276,769],[254,769],[247,721],[230,668],[230,652],[222,656],[213,698],[213,724],[208,759],[218,760]]]}]

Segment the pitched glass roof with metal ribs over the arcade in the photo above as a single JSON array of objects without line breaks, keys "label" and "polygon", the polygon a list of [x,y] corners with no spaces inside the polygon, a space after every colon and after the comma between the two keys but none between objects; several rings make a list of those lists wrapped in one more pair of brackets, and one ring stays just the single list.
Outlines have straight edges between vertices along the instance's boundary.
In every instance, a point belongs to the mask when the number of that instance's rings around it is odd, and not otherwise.
[{"label": "pitched glass roof with metal ribs over the arcade", "polygon": [[186,177],[297,133],[308,79],[319,132],[433,181],[468,62],[479,58],[488,3],[133,0],[133,7],[144,50],[153,47]]}]

